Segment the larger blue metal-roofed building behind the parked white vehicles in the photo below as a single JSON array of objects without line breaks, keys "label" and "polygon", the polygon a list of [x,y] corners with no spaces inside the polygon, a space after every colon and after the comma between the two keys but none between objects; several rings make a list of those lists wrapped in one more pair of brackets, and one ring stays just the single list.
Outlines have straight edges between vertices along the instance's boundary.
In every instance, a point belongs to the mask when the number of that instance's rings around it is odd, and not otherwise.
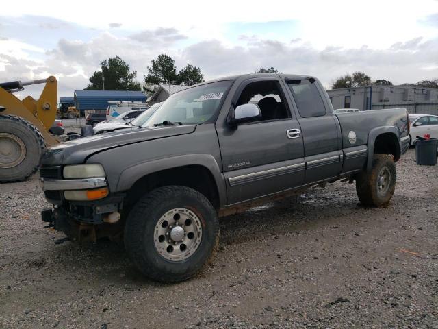
[{"label": "larger blue metal-roofed building behind the parked white vehicles", "polygon": [[106,110],[108,101],[146,102],[141,91],[123,90],[75,90],[75,105],[83,114],[86,110]]}]

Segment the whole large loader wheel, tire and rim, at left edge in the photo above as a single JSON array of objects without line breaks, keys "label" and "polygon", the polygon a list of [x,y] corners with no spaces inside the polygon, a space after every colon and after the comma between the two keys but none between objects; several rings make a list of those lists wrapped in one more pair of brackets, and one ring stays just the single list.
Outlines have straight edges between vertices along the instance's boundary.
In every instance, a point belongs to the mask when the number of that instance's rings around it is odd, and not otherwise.
[{"label": "whole large loader wheel, tire and rim, at left edge", "polygon": [[29,121],[0,115],[0,182],[19,182],[36,172],[44,138]]}]

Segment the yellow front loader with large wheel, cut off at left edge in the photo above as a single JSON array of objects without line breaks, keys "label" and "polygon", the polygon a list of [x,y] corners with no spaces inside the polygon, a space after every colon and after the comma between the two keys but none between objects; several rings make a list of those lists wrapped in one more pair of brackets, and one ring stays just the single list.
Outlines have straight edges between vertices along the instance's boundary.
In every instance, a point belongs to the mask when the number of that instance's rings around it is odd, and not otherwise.
[{"label": "yellow front loader with large wheel, cut off at left edge", "polygon": [[[39,99],[12,93],[46,84]],[[38,169],[45,147],[60,143],[49,133],[55,120],[57,81],[53,76],[29,82],[0,83],[0,182],[25,180]]]}]

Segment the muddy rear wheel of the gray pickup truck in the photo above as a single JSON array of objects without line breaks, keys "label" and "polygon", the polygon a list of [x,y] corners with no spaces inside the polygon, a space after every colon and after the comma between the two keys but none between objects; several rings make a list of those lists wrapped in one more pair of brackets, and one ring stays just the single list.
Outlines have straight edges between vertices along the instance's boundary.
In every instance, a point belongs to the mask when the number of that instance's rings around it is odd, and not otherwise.
[{"label": "muddy rear wheel of the gray pickup truck", "polygon": [[396,164],[392,156],[374,154],[371,171],[363,171],[356,178],[359,201],[364,206],[385,206],[394,195],[396,180]]}]

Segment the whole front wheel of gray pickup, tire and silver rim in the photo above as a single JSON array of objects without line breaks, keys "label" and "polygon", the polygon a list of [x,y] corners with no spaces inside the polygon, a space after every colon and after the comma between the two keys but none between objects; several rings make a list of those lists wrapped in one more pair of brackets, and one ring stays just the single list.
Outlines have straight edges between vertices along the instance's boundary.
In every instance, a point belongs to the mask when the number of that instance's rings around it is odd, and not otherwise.
[{"label": "whole front wheel of gray pickup, tire and silver rim", "polygon": [[179,282],[196,276],[219,241],[216,210],[192,188],[164,186],[140,199],[129,213],[125,247],[147,277]]}]

